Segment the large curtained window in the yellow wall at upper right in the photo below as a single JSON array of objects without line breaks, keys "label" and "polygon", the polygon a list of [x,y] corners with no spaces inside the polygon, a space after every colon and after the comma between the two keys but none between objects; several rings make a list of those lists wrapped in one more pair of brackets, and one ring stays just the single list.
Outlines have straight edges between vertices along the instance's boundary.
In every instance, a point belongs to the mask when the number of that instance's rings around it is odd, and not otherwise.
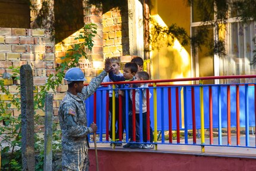
[{"label": "large curtained window in the yellow wall at upper right", "polygon": [[[198,1],[200,0],[196,0],[195,2]],[[197,34],[197,30],[202,26],[202,23],[199,21],[206,21],[198,19],[200,18],[199,14],[194,12],[194,9],[197,8],[198,6],[192,6],[192,36]],[[204,23],[206,25],[208,24],[209,28],[210,26],[214,27],[209,32],[210,34],[213,33],[212,38],[210,35],[207,36],[208,40],[210,40],[208,45],[213,45],[214,40],[223,40],[223,45],[225,45],[225,55],[220,53],[212,55],[210,55],[211,53],[208,53],[207,55],[206,50],[210,52],[210,47],[208,47],[208,49],[206,49],[206,47],[201,48],[201,50],[196,49],[195,53],[192,53],[194,55],[192,58],[194,61],[195,77],[256,74],[256,67],[250,65],[254,55],[252,51],[256,48],[255,43],[252,41],[256,35],[256,23],[254,21],[248,24],[241,23],[238,18],[236,18],[236,10],[231,5],[229,5],[227,14],[227,21],[225,24],[219,23],[213,26],[212,23]],[[197,17],[197,15],[199,17]],[[212,65],[213,69],[211,68]],[[255,79],[220,80],[220,83],[252,82],[255,83]],[[215,83],[218,84],[219,81],[215,81]]]}]

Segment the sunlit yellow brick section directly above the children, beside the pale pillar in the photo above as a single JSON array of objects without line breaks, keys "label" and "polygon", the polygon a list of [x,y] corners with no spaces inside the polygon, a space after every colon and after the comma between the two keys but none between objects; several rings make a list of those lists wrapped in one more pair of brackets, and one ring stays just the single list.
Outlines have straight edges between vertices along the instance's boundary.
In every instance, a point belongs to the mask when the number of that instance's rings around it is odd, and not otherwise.
[{"label": "sunlit yellow brick section directly above the children, beside the pale pillar", "polygon": [[129,54],[127,12],[113,8],[103,14],[103,54],[105,57]]}]

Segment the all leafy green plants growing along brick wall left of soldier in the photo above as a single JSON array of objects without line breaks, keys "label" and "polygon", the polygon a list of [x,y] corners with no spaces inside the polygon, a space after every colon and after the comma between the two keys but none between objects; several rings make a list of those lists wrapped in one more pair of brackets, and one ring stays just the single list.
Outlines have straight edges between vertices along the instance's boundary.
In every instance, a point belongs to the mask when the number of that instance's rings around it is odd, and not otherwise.
[{"label": "all leafy green plants growing along brick wall left of soldier", "polygon": [[[84,31],[80,33],[75,39],[79,39],[81,43],[72,46],[72,49],[68,50],[66,56],[62,57],[63,62],[56,67],[56,74],[50,74],[45,85],[40,87],[40,91],[34,96],[34,109],[43,109],[45,104],[45,96],[50,91],[55,92],[56,87],[62,83],[65,75],[65,70],[78,65],[79,59],[84,56],[86,58],[85,47],[89,50],[93,47],[93,37],[97,34],[96,24],[87,24],[84,26]],[[18,80],[20,68],[11,67],[13,80]],[[1,137],[1,156],[2,156],[2,170],[21,170],[21,114],[18,117],[12,116],[8,113],[8,108],[15,106],[17,110],[20,110],[20,96],[18,93],[10,93],[5,87],[4,81],[0,80],[0,91],[6,94],[10,101],[4,101],[0,96],[0,122],[4,122],[5,126],[0,127]],[[20,86],[18,86],[20,90]],[[43,125],[43,119],[39,115],[35,114],[34,124]],[[35,150],[39,153],[36,157],[36,170],[43,169],[43,149],[44,139],[40,136],[40,132],[34,135],[35,138]],[[61,149],[61,130],[57,129],[57,123],[53,123],[53,155]],[[5,144],[5,145],[4,145]],[[4,145],[4,146],[3,146]],[[53,156],[54,158],[54,156]]]}]

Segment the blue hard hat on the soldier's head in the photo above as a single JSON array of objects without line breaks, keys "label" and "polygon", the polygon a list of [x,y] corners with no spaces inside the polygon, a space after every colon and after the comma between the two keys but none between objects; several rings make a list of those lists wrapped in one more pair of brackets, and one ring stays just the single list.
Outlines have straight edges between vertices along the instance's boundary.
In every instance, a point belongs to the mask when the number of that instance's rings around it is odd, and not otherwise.
[{"label": "blue hard hat on the soldier's head", "polygon": [[80,68],[70,68],[66,72],[64,80],[86,81],[86,78],[84,78],[84,72]]}]

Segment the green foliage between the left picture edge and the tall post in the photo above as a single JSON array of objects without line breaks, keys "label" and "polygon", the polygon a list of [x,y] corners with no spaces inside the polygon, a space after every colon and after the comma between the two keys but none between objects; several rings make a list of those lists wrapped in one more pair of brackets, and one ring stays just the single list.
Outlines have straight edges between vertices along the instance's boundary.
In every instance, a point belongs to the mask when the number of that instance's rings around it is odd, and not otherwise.
[{"label": "green foliage between the left picture edge and the tall post", "polygon": [[[18,79],[19,68],[12,68],[14,74],[14,80]],[[4,122],[5,126],[0,127],[1,137],[1,156],[2,156],[2,170],[20,170],[21,169],[21,150],[15,149],[15,147],[21,147],[21,115],[18,118],[12,116],[11,112],[8,112],[8,108],[14,105],[17,110],[20,110],[20,98],[18,93],[11,94],[10,91],[5,88],[4,81],[0,80],[0,87],[2,93],[5,93],[10,99],[10,102],[5,103],[0,99],[0,121]],[[18,87],[19,88],[19,87]],[[2,144],[8,144],[2,147]]]}]

